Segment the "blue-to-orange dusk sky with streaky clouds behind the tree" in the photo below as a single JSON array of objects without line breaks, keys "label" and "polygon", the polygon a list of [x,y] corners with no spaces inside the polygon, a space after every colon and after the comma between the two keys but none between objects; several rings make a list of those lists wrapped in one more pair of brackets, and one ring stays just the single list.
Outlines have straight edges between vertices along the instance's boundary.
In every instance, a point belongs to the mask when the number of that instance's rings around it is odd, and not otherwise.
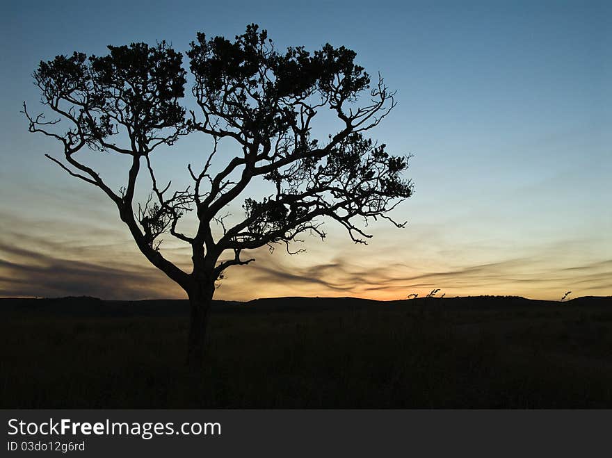
[{"label": "blue-to-orange dusk sky with streaky clouds behind the tree", "polygon": [[[397,90],[375,131],[413,154],[415,192],[355,245],[325,222],[304,254],[255,252],[227,270],[216,298],[408,294],[612,295],[612,3],[512,2],[10,2],[0,17],[0,296],[185,297],[147,264],[99,189],[45,153],[59,145],[27,131],[40,111],[31,74],[40,60],[106,45],[195,34],[233,38],[256,23],[275,46],[357,52]],[[154,158],[168,177],[206,153],[203,138]],[[125,164],[92,154],[120,186]],[[186,181],[185,181],[186,182]],[[257,193],[257,186],[252,192]],[[240,215],[241,202],[230,208]],[[186,247],[163,245],[188,269]]]}]

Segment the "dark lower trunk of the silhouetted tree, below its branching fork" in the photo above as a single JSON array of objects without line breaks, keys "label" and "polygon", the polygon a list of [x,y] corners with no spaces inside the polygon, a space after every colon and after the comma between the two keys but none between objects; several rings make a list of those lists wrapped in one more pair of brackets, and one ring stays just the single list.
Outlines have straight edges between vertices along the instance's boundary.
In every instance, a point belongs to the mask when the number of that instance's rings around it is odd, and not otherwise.
[{"label": "dark lower trunk of the silhouetted tree, below its branching fork", "polygon": [[195,286],[192,291],[188,292],[191,313],[189,318],[187,364],[193,368],[202,366],[204,362],[206,327],[214,291],[214,284],[211,284]]}]

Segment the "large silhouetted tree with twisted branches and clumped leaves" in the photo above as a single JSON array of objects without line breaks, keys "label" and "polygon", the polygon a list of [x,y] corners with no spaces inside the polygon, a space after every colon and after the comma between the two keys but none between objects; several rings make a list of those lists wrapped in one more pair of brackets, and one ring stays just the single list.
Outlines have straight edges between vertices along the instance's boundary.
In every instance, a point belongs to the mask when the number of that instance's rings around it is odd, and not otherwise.
[{"label": "large silhouetted tree with twisted branches and clumped leaves", "polygon": [[[40,62],[35,85],[57,119],[33,117],[25,103],[24,114],[31,132],[63,146],[61,160],[46,156],[100,188],[117,206],[140,252],[186,291],[191,363],[202,361],[216,281],[230,266],[255,261],[243,258],[243,251],[284,243],[291,252],[291,243],[307,232],[323,239],[322,218],[344,226],[355,243],[371,237],[357,220],[380,217],[404,226],[387,213],[412,194],[412,183],[401,176],[408,156],[392,156],[384,144],[364,136],[394,108],[394,92],[380,75],[371,85],[369,74],[354,63],[354,51],[325,44],[312,54],[303,47],[280,52],[255,24],[233,41],[207,40],[198,33],[186,52],[195,78],[194,109],[187,111],[179,104],[186,85],[182,55],[170,45],[108,49],[102,57],[75,52]],[[320,140],[312,124],[323,108],[339,127]],[[214,146],[199,167],[187,165],[193,186],[175,191],[170,183],[160,186],[150,156],[161,145],[198,132]],[[237,154],[223,161],[220,142],[232,142]],[[83,163],[88,150],[127,156],[125,186],[111,189]],[[151,185],[143,204],[134,197],[141,171]],[[242,220],[226,224],[224,209],[243,198],[255,179],[273,191],[246,197]],[[188,211],[197,215],[191,234],[177,227]],[[163,256],[163,234],[191,245],[191,272]]]}]

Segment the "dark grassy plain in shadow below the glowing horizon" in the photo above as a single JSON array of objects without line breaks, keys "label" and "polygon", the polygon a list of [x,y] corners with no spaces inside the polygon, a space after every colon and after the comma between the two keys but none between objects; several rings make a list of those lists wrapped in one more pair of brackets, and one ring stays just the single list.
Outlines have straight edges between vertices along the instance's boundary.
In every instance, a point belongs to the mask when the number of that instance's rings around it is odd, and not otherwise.
[{"label": "dark grassy plain in shadow below the glowing horizon", "polygon": [[3,408],[612,407],[612,301],[0,301]]}]

